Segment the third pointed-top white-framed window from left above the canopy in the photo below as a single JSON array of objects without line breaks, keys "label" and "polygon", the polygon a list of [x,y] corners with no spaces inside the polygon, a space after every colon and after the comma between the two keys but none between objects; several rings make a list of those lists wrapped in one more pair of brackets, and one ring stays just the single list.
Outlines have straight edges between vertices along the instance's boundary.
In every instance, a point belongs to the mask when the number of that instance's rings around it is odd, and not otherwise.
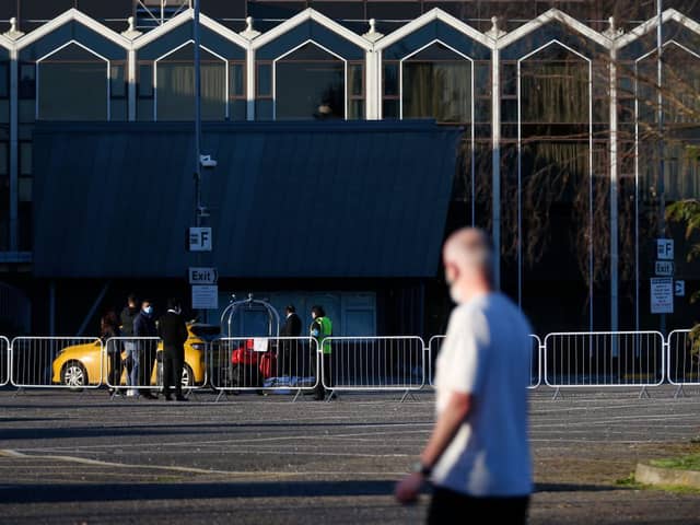
[{"label": "third pointed-top white-framed window from left above the canopy", "polygon": [[346,65],[313,44],[276,63],[276,118],[346,118]]}]

